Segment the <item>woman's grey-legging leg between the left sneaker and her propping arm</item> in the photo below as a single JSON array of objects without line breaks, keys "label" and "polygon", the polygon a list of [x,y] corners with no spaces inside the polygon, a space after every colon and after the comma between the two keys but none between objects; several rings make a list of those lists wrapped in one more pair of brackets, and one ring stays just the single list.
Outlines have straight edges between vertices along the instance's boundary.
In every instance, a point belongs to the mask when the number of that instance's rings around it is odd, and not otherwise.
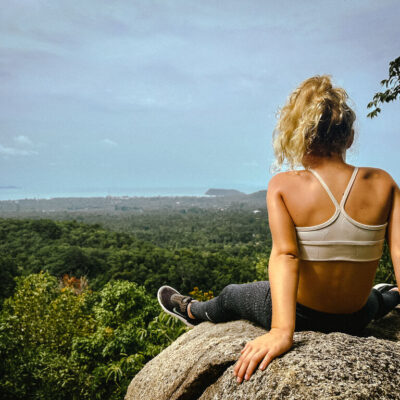
[{"label": "woman's grey-legging leg between the left sneaker and her propping arm", "polygon": [[197,319],[227,322],[247,319],[265,329],[271,327],[271,293],[268,281],[225,286],[208,301],[191,302],[190,312]]}]

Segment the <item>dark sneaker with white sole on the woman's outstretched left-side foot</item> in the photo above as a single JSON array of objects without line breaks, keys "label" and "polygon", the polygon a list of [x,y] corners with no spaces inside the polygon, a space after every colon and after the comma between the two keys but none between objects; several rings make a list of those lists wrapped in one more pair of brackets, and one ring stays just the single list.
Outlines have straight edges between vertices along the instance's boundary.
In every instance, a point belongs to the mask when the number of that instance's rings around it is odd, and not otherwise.
[{"label": "dark sneaker with white sole on the woman's outstretched left-side foot", "polygon": [[183,296],[171,286],[161,286],[157,292],[157,300],[161,308],[168,314],[180,319],[185,325],[193,328],[203,322],[199,319],[190,318],[187,306],[193,300],[190,296]]}]

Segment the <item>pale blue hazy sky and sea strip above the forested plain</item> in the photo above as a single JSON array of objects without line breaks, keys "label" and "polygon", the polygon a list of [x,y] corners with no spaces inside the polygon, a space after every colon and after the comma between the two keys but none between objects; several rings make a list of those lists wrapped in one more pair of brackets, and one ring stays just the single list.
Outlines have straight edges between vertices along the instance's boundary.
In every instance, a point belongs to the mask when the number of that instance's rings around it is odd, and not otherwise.
[{"label": "pale blue hazy sky and sea strip above the forested plain", "polygon": [[[329,74],[348,162],[398,182],[397,0],[1,0],[0,199],[266,189],[276,113]],[[15,188],[7,188],[15,186]]]}]

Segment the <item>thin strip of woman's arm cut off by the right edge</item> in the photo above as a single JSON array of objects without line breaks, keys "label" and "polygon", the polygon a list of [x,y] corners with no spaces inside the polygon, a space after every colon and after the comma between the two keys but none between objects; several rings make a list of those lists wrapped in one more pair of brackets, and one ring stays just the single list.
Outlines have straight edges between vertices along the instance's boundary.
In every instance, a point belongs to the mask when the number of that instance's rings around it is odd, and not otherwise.
[{"label": "thin strip of woman's arm cut off by the right edge", "polygon": [[397,287],[400,289],[400,189],[392,179],[392,208],[389,215],[387,241],[392,257]]}]

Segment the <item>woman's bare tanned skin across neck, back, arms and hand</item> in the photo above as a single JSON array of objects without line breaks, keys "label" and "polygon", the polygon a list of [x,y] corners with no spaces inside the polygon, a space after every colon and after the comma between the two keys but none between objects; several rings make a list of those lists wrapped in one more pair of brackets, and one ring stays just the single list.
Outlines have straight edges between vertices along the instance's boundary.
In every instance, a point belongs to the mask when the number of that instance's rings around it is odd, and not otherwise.
[{"label": "woman's bare tanned skin across neck, back, arms and hand", "polygon": [[[354,166],[346,164],[340,154],[308,156],[303,164],[321,175],[340,203]],[[273,240],[268,267],[272,325],[268,333],[248,342],[241,351],[234,368],[238,383],[250,379],[258,365],[264,370],[275,357],[290,350],[296,302],[328,313],[353,313],[365,304],[378,267],[378,260],[316,262],[299,259],[295,226],[320,224],[335,211],[328,194],[310,171],[275,175],[268,185],[267,207]],[[345,211],[363,224],[388,222],[386,238],[399,286],[400,190],[395,181],[381,169],[360,168]]]}]

